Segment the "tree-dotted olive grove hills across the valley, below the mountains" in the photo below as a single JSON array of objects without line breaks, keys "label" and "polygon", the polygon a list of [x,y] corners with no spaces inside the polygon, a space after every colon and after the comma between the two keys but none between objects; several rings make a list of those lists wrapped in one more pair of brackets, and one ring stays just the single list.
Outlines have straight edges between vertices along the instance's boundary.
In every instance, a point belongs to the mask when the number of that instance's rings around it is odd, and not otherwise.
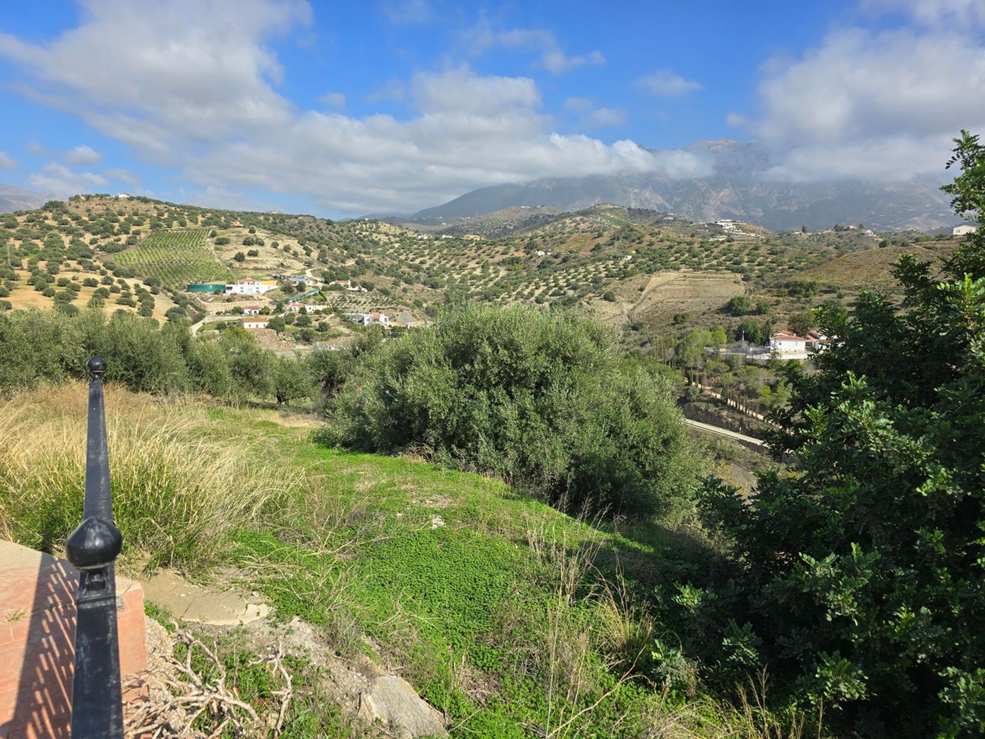
[{"label": "tree-dotted olive grove hills across the valley, below the mountains", "polygon": [[[734,327],[742,316],[722,308],[737,295],[766,302],[780,325],[824,300],[850,305],[866,287],[892,290],[888,268],[899,253],[918,249],[936,258],[955,243],[856,228],[775,234],[736,222],[726,229],[616,205],[517,207],[422,231],[96,196],[9,214],[0,227],[0,248],[10,249],[13,267],[0,300],[14,308],[105,305],[164,320],[174,307],[201,316],[256,302],[185,293],[194,282],[294,275],[312,285],[352,280],[365,288],[321,289],[306,299],[323,306],[323,323],[303,335],[289,329],[280,337],[286,344],[272,336],[271,347],[285,351],[345,335],[339,312],[409,311],[420,319],[462,301],[594,313],[631,328],[634,344],[689,326]],[[814,284],[812,295],[792,299],[775,288],[791,280]],[[282,283],[264,302],[292,294]]]}]

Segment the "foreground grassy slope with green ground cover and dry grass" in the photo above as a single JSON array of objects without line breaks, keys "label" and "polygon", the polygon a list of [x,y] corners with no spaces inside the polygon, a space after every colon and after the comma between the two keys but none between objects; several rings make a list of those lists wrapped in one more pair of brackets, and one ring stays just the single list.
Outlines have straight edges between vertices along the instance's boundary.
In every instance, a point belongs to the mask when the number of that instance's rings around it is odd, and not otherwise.
[{"label": "foreground grassy slope with green ground cover and dry grass", "polygon": [[[74,525],[81,492],[68,481],[84,465],[85,393],[69,383],[6,406],[3,437],[23,442],[0,446],[0,476],[16,481],[0,488],[0,530],[16,541],[57,549]],[[143,578],[166,567],[262,597],[267,622],[184,626],[261,710],[280,705],[281,685],[255,665],[270,644],[287,646],[285,736],[389,735],[356,717],[343,671],[401,675],[453,737],[520,739],[538,727],[571,738],[753,739],[776,721],[747,720],[693,677],[682,678],[687,691],[660,688],[654,587],[708,555],[700,540],[651,524],[590,525],[414,457],[326,448],[303,414],[118,386],[106,402],[120,569]],[[171,628],[153,599],[148,610]]]}]

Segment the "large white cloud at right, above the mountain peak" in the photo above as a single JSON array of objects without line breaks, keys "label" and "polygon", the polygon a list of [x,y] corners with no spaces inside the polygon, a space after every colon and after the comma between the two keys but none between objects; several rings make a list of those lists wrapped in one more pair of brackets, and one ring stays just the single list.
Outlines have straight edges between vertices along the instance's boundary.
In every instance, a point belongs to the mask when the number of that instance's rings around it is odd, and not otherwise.
[{"label": "large white cloud at right, above the mountain peak", "polygon": [[773,176],[939,173],[959,129],[985,129],[985,46],[933,25],[844,29],[802,59],[769,62],[759,101],[749,129],[787,152]]}]

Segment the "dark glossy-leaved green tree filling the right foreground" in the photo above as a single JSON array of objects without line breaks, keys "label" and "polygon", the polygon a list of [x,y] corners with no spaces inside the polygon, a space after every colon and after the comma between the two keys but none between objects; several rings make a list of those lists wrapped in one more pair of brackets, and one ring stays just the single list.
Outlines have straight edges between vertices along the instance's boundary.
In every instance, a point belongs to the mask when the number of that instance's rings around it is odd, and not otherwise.
[{"label": "dark glossy-leaved green tree filling the right foreground", "polygon": [[[980,218],[985,152],[955,143],[948,191]],[[702,588],[720,596],[703,642],[745,644],[744,667],[846,735],[985,733],[983,256],[969,242],[939,282],[904,255],[902,310],[872,293],[851,317],[821,307],[839,344],[821,371],[788,370],[773,437],[797,474],[764,475],[749,500],[720,483],[701,496],[727,550]]]}]

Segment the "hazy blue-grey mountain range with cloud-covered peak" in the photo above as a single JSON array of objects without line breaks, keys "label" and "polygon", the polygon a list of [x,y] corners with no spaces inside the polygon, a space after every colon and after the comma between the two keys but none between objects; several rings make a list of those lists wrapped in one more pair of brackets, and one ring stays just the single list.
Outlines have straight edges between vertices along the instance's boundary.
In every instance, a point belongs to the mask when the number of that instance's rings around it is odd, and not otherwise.
[{"label": "hazy blue-grey mountain range with cloud-covered peak", "polygon": [[434,225],[516,206],[578,211],[613,203],[697,222],[747,221],[773,231],[839,223],[929,231],[961,222],[936,181],[776,181],[767,173],[776,163],[775,156],[755,142],[702,141],[685,151],[703,160],[713,173],[690,179],[656,172],[542,177],[525,184],[482,187],[419,211],[408,221]]}]

